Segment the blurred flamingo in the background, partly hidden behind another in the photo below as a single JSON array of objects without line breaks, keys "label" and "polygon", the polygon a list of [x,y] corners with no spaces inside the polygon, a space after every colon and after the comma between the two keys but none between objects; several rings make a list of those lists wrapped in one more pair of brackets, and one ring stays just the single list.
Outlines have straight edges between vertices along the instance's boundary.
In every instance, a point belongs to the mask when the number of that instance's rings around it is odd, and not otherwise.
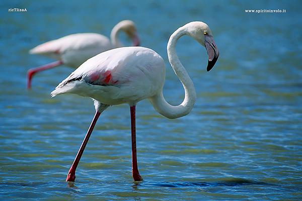
[{"label": "blurred flamingo in the background, partly hidden behind another", "polygon": [[78,68],[87,59],[107,50],[122,47],[118,33],[124,31],[132,39],[133,46],[138,46],[140,41],[135,24],[130,20],[123,20],[113,27],[110,38],[97,33],[78,33],[64,36],[57,40],[48,41],[30,50],[30,54],[41,54],[52,57],[58,61],[31,68],[27,71],[27,88],[31,87],[33,75],[41,70],[65,64]]}]

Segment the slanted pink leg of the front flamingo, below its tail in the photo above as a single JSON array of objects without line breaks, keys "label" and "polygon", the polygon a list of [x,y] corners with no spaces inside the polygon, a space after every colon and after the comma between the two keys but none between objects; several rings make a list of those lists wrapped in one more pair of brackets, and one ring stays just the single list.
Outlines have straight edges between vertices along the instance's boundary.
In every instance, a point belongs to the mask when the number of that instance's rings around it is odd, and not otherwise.
[{"label": "slanted pink leg of the front flamingo, below its tail", "polygon": [[93,129],[94,129],[94,127],[95,127],[95,125],[96,125],[96,123],[97,123],[98,118],[100,117],[100,115],[101,115],[101,113],[97,111],[96,114],[95,114],[95,116],[94,116],[94,118],[93,118],[93,120],[92,120],[92,122],[91,122],[91,125],[90,125],[90,127],[88,129],[88,132],[87,132],[87,134],[85,136],[85,139],[84,139],[84,141],[83,141],[83,143],[82,143],[82,145],[81,145],[81,147],[79,149],[79,152],[78,152],[77,156],[75,156],[75,159],[74,159],[74,161],[73,161],[73,163],[72,163],[72,165],[71,165],[71,167],[70,167],[70,169],[68,171],[66,181],[74,181],[75,180],[75,169],[77,169],[77,167],[78,167],[78,164],[80,162],[81,156],[82,156],[82,154],[84,152],[84,149],[85,149],[85,147],[86,147],[86,145],[88,143],[88,140],[89,140],[89,138],[91,136],[91,133],[92,133],[92,131],[93,131]]}]

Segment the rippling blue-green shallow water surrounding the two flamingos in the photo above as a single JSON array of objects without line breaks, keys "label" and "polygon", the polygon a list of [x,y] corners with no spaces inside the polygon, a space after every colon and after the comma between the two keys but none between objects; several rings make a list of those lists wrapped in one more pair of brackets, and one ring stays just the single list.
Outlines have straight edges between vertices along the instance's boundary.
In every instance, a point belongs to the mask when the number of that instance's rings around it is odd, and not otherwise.
[{"label": "rippling blue-green shallow water surrounding the two flamingos", "polygon": [[[302,21],[300,1],[71,1],[4,3],[0,12],[0,196],[4,200],[300,200],[302,199]],[[26,13],[7,12],[26,8]],[[286,13],[245,13],[280,9]],[[177,53],[196,88],[186,117],[169,120],[148,100],[137,104],[137,157],[142,182],[131,176],[127,105],[100,117],[77,169],[68,169],[95,113],[90,98],[50,91],[72,69],[41,72],[26,89],[26,71],[53,60],[29,55],[45,41],[79,32],[110,35],[124,19],[141,45],[166,61],[164,95],[182,102],[171,69],[169,36],[203,21],[220,56],[189,37]],[[121,36],[125,39],[125,36]],[[128,41],[124,41],[127,45]]]}]

